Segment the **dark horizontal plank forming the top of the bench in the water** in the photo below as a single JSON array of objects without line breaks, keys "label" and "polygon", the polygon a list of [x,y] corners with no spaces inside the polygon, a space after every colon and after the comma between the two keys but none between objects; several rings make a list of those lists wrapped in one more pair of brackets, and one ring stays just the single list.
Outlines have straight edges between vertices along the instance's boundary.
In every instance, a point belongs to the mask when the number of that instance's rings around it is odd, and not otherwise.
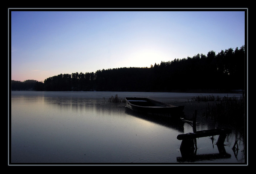
[{"label": "dark horizontal plank forming the top of the bench in the water", "polygon": [[220,134],[229,134],[231,133],[230,129],[210,129],[210,130],[200,130],[195,133],[186,133],[180,134],[177,136],[178,140],[183,139],[194,139],[206,136],[220,135]]}]

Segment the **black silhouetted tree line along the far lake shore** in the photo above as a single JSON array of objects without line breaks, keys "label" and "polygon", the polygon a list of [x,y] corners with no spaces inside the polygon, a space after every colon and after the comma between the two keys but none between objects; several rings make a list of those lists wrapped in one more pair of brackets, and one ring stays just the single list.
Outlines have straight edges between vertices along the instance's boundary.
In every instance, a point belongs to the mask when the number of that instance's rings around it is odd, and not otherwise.
[{"label": "black silhouetted tree line along the far lake shore", "polygon": [[[34,84],[34,86],[33,86]],[[218,54],[174,59],[150,68],[114,68],[59,74],[44,82],[12,80],[12,90],[36,91],[215,91],[245,89],[245,46]]]}]

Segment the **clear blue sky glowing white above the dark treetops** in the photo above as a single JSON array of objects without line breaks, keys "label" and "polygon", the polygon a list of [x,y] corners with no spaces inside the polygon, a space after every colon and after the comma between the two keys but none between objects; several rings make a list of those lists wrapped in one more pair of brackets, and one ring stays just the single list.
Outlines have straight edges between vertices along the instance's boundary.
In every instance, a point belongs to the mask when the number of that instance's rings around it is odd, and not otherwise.
[{"label": "clear blue sky glowing white above the dark treetops", "polygon": [[[11,12],[11,80],[150,67],[245,45],[245,11]],[[11,36],[11,37],[10,37]]]}]

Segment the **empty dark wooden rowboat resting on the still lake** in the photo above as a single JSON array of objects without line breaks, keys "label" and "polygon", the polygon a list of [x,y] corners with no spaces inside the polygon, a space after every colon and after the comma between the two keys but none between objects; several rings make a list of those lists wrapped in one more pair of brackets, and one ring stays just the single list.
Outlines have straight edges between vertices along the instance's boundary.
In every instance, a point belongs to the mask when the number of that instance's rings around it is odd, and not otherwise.
[{"label": "empty dark wooden rowboat resting on the still lake", "polygon": [[178,117],[180,113],[183,113],[184,109],[184,106],[173,106],[149,98],[126,97],[125,101],[126,107],[131,110],[153,115]]}]

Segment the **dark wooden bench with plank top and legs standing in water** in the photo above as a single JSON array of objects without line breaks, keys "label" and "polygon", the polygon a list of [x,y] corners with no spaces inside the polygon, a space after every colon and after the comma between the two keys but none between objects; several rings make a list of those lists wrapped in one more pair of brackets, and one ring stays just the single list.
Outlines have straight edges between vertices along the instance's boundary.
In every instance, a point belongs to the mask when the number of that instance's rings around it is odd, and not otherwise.
[{"label": "dark wooden bench with plank top and legs standing in water", "polygon": [[224,145],[227,134],[231,132],[230,129],[200,130],[195,133],[180,134],[177,136],[177,139],[182,140],[180,148],[194,148],[195,138],[219,135],[216,145]]}]

